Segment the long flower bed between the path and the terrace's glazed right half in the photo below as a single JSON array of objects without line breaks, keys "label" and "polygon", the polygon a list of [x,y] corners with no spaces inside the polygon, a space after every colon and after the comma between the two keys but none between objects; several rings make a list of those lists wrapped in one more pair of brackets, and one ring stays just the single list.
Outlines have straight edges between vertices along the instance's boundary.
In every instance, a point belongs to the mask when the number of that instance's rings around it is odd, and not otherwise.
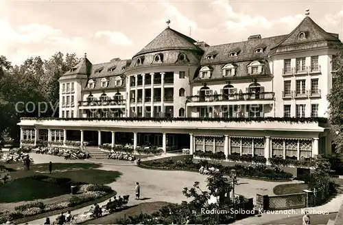
[{"label": "long flower bed between the path and the terrace's glazed right half", "polygon": [[222,169],[225,174],[230,175],[231,169],[236,169],[237,176],[247,178],[260,178],[266,180],[289,180],[292,178],[292,174],[289,174],[283,170],[277,168],[270,169],[265,165],[244,166],[234,165],[233,167],[226,167],[220,163],[210,163],[209,161],[200,161],[199,163],[193,163],[192,160],[185,161],[172,161],[171,159],[144,161],[139,165],[140,167],[147,169],[171,169],[171,170],[187,170],[187,171],[199,171],[201,166],[215,167]]}]

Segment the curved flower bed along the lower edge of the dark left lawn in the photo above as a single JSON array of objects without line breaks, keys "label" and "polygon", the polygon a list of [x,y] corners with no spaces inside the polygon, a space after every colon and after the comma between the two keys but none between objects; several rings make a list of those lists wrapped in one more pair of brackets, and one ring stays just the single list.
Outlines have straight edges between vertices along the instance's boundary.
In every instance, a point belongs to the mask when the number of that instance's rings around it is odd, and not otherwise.
[{"label": "curved flower bed along the lower edge of the dark left lawn", "polygon": [[103,196],[113,192],[113,190],[106,185],[81,185],[79,191],[82,191],[82,193],[71,196],[71,198],[68,200],[63,200],[62,202],[55,202],[52,204],[44,204],[43,202],[39,201],[29,202],[27,204],[16,206],[12,212],[0,212],[0,224],[3,224],[11,219],[18,220],[23,217],[29,217],[32,215],[38,215],[40,213],[77,206],[84,202],[102,198]]}]

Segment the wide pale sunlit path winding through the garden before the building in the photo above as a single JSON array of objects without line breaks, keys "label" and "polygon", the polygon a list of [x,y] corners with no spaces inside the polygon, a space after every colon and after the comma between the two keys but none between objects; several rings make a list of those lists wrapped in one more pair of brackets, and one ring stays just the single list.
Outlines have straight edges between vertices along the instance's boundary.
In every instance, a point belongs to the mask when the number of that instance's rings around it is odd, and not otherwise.
[{"label": "wide pale sunlit path winding through the garden before the building", "polygon": [[[47,156],[42,154],[30,154],[34,158],[35,163],[46,163],[47,160],[53,163],[70,163],[71,161],[64,161],[63,158],[56,156]],[[113,160],[115,161],[115,160]],[[77,161],[75,161],[76,163]],[[81,161],[84,162],[84,161]],[[119,162],[119,161],[117,161]],[[206,176],[190,171],[162,171],[152,169],[142,169],[140,167],[126,166],[126,165],[103,165],[99,169],[120,171],[122,175],[116,182],[108,184],[115,191],[117,195],[130,195],[128,205],[136,205],[141,202],[171,202],[180,203],[182,200],[187,200],[182,195],[182,189],[184,187],[192,187],[195,181],[200,182],[202,189],[206,188]],[[140,183],[141,186],[141,198],[145,200],[134,200],[134,187],[136,182]],[[298,182],[298,181],[292,181]],[[283,182],[283,183],[292,183]],[[246,178],[239,178],[236,186],[236,193],[246,196],[247,198],[254,198],[256,193],[264,195],[273,195],[273,188],[276,185],[280,185],[280,182],[265,182],[262,180],[252,180]],[[100,203],[104,205],[108,202]],[[86,206],[82,209],[78,209],[72,212],[73,215],[84,213],[88,211],[91,206]],[[50,220],[56,220],[58,215],[50,217]],[[34,220],[29,224],[43,224],[45,218],[40,220]]]}]

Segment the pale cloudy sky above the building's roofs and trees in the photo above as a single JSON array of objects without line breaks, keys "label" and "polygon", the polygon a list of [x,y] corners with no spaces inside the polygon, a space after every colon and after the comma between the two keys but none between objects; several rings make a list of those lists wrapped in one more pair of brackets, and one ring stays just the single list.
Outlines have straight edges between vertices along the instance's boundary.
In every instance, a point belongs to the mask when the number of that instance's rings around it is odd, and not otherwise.
[{"label": "pale cloudy sky above the building's roofs and trees", "polygon": [[343,35],[342,1],[5,1],[0,55],[12,64],[57,51],[93,64],[128,59],[167,27],[209,45],[289,34],[305,10],[327,32]]}]

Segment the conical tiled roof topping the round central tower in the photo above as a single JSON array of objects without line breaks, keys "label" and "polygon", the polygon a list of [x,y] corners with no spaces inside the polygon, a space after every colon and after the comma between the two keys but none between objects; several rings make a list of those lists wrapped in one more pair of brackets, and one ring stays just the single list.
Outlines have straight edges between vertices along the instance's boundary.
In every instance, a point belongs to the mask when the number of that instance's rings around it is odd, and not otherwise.
[{"label": "conical tiled roof topping the round central tower", "polygon": [[193,40],[193,38],[167,27],[161,34],[158,34],[154,40],[152,40],[149,44],[143,47],[141,51],[134,55],[134,57],[142,54],[166,50],[202,51],[202,49],[196,45],[196,40]]}]

